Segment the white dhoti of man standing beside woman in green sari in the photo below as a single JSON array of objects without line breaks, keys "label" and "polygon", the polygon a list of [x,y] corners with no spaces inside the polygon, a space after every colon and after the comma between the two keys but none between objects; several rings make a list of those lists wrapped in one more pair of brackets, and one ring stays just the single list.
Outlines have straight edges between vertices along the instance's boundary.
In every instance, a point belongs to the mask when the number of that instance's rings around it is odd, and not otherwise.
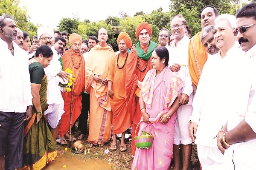
[{"label": "white dhoti of man standing beside woman in green sari", "polygon": [[64,113],[64,103],[59,105],[49,104],[48,109],[44,112],[47,115],[49,125],[55,129],[58,122],[61,120],[61,116]]}]

